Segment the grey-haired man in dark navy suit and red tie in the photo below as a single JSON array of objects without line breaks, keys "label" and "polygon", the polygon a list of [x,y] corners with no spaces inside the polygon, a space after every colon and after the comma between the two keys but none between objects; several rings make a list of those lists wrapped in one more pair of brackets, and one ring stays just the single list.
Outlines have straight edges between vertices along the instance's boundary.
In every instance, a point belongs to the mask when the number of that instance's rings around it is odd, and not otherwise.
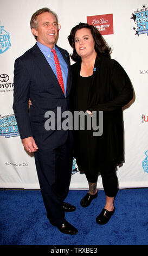
[{"label": "grey-haired man in dark navy suit and red tie", "polygon": [[[24,148],[34,152],[50,223],[62,233],[76,234],[78,230],[65,220],[65,211],[74,211],[75,206],[63,202],[72,173],[73,138],[70,131],[59,129],[57,124],[57,107],[61,114],[69,109],[69,54],[55,44],[58,22],[53,11],[36,11],[30,26],[37,42],[15,61],[14,113]],[[28,113],[29,98],[32,104]],[[48,111],[55,115],[54,130],[44,125]]]}]

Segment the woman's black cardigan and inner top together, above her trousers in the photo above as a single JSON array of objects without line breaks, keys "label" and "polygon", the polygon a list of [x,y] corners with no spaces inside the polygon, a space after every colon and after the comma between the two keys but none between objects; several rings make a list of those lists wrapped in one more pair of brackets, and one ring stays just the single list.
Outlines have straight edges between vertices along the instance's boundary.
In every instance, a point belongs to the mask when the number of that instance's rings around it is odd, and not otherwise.
[{"label": "woman's black cardigan and inner top together, above her trousers", "polygon": [[[92,172],[95,168],[98,168],[98,163],[100,162],[104,164],[106,162],[121,163],[124,160],[122,107],[133,98],[130,79],[116,60],[99,54],[97,54],[95,59],[95,69],[92,78],[80,77],[81,60],[71,67],[72,90],[70,93],[70,102],[72,111],[78,111],[78,107],[86,107],[89,111],[103,111],[102,136],[94,137],[92,136],[92,131],[86,131],[87,141],[83,139],[81,145],[81,141],[79,140],[81,136],[78,136],[78,133],[80,134],[83,131],[74,131],[74,156],[76,157],[79,169],[86,167]],[[88,84],[86,81],[90,79],[89,93],[86,89],[82,97],[82,95],[79,95],[79,90],[81,90],[79,87],[84,86],[82,81],[85,81],[87,88]],[[85,102],[80,102],[79,99],[82,101],[87,96],[86,106],[83,105]],[[85,147],[83,147],[83,144]],[[80,151],[82,149],[85,150],[85,153],[81,157]],[[81,159],[84,160],[83,163],[85,166],[81,166]]]}]

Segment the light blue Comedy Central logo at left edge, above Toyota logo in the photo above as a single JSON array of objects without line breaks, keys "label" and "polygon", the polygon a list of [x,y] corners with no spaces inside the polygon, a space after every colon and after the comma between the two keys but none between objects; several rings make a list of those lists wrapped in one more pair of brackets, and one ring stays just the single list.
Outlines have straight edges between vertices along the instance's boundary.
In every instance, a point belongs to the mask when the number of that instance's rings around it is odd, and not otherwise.
[{"label": "light blue Comedy Central logo at left edge, above Toyota logo", "polygon": [[7,51],[10,46],[10,33],[4,30],[4,26],[0,26],[0,53]]}]

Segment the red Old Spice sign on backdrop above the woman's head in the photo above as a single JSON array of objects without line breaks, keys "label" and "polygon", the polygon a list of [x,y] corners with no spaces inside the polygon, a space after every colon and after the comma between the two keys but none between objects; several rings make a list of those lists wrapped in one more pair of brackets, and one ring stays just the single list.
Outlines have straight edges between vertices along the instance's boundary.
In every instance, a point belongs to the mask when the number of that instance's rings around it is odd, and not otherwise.
[{"label": "red Old Spice sign on backdrop above the woman's head", "polygon": [[87,16],[87,23],[96,27],[102,35],[113,34],[113,14]]}]

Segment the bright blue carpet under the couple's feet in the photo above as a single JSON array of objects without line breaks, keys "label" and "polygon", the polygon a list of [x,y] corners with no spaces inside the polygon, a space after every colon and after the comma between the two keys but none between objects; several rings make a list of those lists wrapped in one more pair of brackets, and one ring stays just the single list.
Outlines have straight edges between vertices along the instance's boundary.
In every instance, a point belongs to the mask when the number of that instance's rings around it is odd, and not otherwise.
[{"label": "bright blue carpet under the couple's feet", "polygon": [[119,190],[115,214],[106,225],[95,222],[104,208],[104,190],[82,208],[86,192],[69,191],[65,200],[76,206],[75,212],[66,212],[79,230],[70,236],[49,223],[40,190],[1,190],[0,245],[148,245],[148,188]]}]

